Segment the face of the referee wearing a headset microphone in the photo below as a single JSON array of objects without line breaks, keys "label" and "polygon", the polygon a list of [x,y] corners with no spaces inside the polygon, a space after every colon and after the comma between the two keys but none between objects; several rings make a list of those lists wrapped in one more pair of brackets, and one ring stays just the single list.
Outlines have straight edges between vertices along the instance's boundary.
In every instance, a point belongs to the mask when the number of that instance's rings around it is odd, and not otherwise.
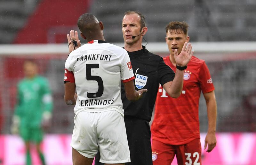
[{"label": "face of the referee wearing a headset microphone", "polygon": [[[133,44],[141,39],[140,35],[140,16],[136,13],[125,15],[122,22],[122,31],[124,42],[126,44]],[[132,38],[132,36],[136,36]]]}]

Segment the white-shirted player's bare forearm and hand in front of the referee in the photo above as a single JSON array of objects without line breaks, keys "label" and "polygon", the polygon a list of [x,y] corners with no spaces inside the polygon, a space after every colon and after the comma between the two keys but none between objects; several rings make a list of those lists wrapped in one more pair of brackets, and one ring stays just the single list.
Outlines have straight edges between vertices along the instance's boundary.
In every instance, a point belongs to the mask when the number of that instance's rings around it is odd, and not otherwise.
[{"label": "white-shirted player's bare forearm and hand in front of the referee", "polygon": [[142,97],[142,93],[147,92],[147,89],[135,90],[133,81],[124,83],[125,96],[130,101],[137,101]]}]

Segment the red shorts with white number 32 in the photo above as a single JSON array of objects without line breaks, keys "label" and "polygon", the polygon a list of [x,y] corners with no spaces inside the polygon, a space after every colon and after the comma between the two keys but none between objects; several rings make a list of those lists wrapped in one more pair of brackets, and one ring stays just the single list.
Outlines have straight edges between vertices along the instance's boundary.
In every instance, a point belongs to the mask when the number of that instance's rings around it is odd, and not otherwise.
[{"label": "red shorts with white number 32", "polygon": [[168,145],[152,140],[153,165],[170,165],[176,154],[178,165],[200,165],[200,139],[192,140],[184,145]]}]

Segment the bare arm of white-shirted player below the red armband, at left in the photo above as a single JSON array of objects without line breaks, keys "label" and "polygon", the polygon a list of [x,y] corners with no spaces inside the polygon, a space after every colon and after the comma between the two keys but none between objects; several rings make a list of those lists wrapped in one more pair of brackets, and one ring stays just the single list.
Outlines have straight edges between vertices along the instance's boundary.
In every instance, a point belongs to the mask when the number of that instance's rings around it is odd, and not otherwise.
[{"label": "bare arm of white-shirted player below the red armband, at left", "polygon": [[76,91],[75,83],[70,83],[70,82],[65,83],[64,100],[65,100],[66,104],[68,104],[68,105],[76,104],[77,95],[76,95],[75,91]]}]

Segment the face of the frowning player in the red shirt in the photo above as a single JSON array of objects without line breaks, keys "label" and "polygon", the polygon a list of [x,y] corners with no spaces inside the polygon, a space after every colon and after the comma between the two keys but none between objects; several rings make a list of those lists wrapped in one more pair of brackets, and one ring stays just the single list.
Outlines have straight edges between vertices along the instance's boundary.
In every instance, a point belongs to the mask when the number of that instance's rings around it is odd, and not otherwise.
[{"label": "face of the frowning player in the red shirt", "polygon": [[174,50],[177,49],[178,54],[180,54],[184,43],[189,41],[189,36],[185,35],[180,30],[168,30],[165,41],[170,54],[174,56]]}]

